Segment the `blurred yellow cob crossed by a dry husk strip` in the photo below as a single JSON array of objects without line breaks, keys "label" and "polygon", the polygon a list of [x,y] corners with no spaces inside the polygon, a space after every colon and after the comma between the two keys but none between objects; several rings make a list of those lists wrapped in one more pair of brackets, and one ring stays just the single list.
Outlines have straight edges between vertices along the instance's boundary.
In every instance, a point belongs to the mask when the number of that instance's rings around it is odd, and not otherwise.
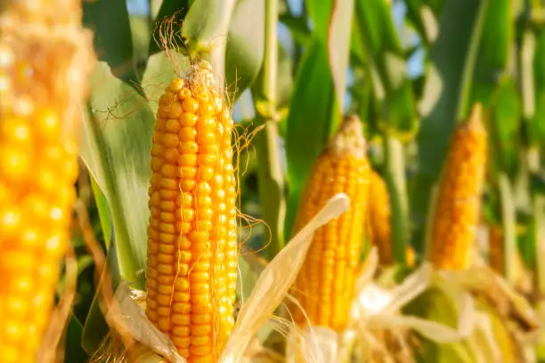
[{"label": "blurred yellow cob crossed by a dry husk strip", "polygon": [[[361,122],[348,117],[313,165],[295,224],[297,232],[337,193],[350,198],[349,211],[316,230],[291,289],[313,325],[336,330],[346,326],[362,252],[369,173]],[[297,325],[305,326],[300,309],[291,311]]]}]

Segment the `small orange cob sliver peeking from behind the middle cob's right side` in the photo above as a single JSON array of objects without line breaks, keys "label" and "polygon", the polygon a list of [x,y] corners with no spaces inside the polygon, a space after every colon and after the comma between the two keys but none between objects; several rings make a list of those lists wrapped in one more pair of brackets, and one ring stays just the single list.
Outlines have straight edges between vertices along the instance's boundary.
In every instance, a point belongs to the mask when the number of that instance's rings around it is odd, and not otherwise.
[{"label": "small orange cob sliver peeking from behind the middle cob's right side", "polygon": [[371,170],[367,231],[370,241],[378,249],[378,261],[382,265],[394,262],[390,241],[390,197],[386,182]]}]

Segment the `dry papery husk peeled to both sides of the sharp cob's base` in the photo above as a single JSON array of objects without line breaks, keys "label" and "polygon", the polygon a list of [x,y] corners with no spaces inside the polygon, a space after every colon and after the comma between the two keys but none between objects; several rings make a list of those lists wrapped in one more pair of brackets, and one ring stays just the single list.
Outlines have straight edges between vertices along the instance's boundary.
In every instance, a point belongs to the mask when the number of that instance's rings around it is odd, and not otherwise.
[{"label": "dry papery husk peeled to both sides of the sharp cob's base", "polygon": [[[311,222],[291,239],[277,256],[261,271],[256,285],[248,300],[243,303],[237,317],[235,327],[232,331],[224,352],[218,362],[234,363],[240,361],[254,361],[273,357],[271,351],[264,348],[260,342],[256,342],[255,335],[264,324],[273,317],[273,312],[281,304],[283,298],[288,294],[289,287],[297,277],[310,246],[315,230],[326,224],[331,219],[338,217],[348,210],[349,200],[345,194],[340,193],[329,199],[326,206],[316,214]],[[164,335],[153,326],[144,313],[144,292],[130,289],[127,284],[120,284],[116,290],[115,298],[118,301],[119,310],[123,312],[128,333],[137,342],[133,350],[137,353],[138,363],[159,363],[159,362],[186,362],[175,350],[175,345],[167,335]],[[112,311],[108,312],[113,314]],[[99,351],[93,362],[128,362],[127,351],[118,349],[115,336],[110,335],[103,344],[104,348]],[[249,349],[248,349],[249,346]],[[274,356],[278,359],[278,356]],[[249,360],[248,360],[249,359]],[[134,360],[131,360],[134,361]],[[271,360],[273,361],[273,360]]]}]

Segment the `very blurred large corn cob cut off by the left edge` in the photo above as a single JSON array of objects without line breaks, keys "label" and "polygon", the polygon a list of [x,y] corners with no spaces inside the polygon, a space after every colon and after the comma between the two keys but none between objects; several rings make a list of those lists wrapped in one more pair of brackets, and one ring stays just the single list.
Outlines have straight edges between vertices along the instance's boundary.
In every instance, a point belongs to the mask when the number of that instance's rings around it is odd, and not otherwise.
[{"label": "very blurred large corn cob cut off by the left edge", "polygon": [[3,363],[36,360],[69,240],[75,121],[92,60],[80,19],[75,0],[12,2],[0,16]]}]

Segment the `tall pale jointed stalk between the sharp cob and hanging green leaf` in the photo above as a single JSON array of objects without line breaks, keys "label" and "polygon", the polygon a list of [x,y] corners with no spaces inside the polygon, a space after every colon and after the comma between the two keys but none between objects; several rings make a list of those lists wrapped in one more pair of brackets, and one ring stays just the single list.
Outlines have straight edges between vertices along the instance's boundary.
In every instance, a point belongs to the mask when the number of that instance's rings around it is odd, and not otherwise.
[{"label": "tall pale jointed stalk between the sharp cob and hanging green leaf", "polygon": [[270,229],[264,233],[265,249],[269,259],[284,246],[284,179],[280,165],[278,121],[276,119],[276,73],[278,65],[278,0],[265,1],[264,62],[259,77],[260,89],[256,98],[256,113],[259,126],[263,127],[255,137],[257,153],[257,187],[261,202],[261,215]]}]

